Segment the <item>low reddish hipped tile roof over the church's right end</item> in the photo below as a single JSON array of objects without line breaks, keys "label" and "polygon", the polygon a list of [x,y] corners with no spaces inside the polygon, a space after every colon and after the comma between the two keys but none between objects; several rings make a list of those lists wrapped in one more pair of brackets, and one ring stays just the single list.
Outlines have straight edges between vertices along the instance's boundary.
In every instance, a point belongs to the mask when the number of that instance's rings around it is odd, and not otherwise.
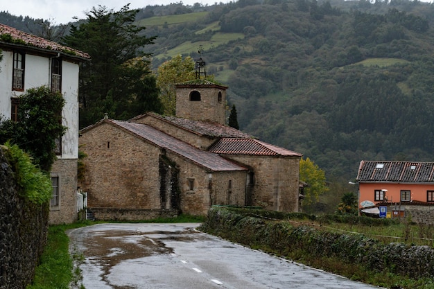
[{"label": "low reddish hipped tile roof over the church's right end", "polygon": [[273,146],[270,143],[265,143],[257,139],[229,139],[223,138],[214,143],[210,152],[220,155],[270,155],[270,156],[291,156],[302,157],[298,152],[286,150]]}]

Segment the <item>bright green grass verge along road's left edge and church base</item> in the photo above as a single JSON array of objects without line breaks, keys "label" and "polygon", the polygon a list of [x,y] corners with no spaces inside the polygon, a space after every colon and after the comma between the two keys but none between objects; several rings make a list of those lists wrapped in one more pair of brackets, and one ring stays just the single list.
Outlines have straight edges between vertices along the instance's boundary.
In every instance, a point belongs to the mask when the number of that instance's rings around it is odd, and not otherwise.
[{"label": "bright green grass verge along road's left edge and church base", "polygon": [[[180,215],[175,218],[157,218],[139,222],[175,223],[175,222],[203,222],[203,216]],[[75,222],[71,225],[53,225],[49,227],[49,234],[40,265],[35,270],[35,278],[26,289],[68,289],[69,284],[81,278],[79,268],[73,268],[73,261],[83,259],[83,256],[69,254],[69,238],[67,229],[75,229],[88,225],[107,223],[107,221]]]}]

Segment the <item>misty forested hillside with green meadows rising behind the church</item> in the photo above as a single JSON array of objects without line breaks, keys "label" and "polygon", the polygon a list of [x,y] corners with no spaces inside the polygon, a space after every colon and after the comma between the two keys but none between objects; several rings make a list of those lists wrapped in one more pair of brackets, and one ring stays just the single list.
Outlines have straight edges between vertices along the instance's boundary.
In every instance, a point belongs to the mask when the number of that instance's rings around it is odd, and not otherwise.
[{"label": "misty forested hillside with green meadows rising behind the church", "polygon": [[137,24],[157,35],[155,70],[202,49],[241,130],[301,152],[331,181],[354,180],[362,159],[434,160],[430,3],[175,3],[144,8]]}]

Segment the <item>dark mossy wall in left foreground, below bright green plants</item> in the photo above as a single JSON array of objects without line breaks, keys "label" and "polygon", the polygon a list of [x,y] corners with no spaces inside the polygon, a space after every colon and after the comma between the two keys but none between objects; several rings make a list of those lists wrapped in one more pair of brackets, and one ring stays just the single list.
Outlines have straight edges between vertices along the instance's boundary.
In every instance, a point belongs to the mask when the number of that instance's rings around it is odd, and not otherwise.
[{"label": "dark mossy wall in left foreground, below bright green plants", "polygon": [[0,288],[25,288],[46,244],[49,204],[17,190],[15,172],[0,148]]}]

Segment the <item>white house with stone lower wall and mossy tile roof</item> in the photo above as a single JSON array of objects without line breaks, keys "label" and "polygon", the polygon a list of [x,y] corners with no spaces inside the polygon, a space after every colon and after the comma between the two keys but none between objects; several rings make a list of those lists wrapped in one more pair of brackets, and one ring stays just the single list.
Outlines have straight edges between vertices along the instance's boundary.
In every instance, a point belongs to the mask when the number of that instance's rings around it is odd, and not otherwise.
[{"label": "white house with stone lower wall and mossy tile roof", "polygon": [[62,125],[67,132],[58,142],[53,164],[50,223],[69,223],[77,218],[78,69],[89,60],[82,51],[62,46],[0,24],[0,114],[16,120],[19,96],[27,89],[46,85],[62,93],[66,104]]}]

